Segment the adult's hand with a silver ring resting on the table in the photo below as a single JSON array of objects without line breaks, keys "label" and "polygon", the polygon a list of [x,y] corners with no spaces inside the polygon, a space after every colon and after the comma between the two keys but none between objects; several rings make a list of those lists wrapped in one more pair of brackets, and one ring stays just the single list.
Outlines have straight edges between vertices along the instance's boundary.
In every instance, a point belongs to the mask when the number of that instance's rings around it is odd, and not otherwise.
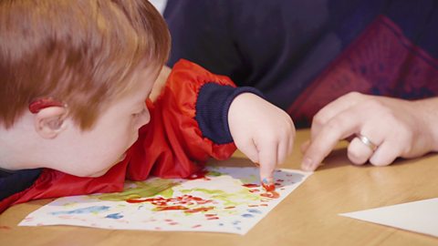
[{"label": "adult's hand with a silver ring resting on the table", "polygon": [[437,98],[407,101],[357,92],[339,97],[313,118],[310,141],[302,147],[301,168],[317,169],[339,140],[351,137],[356,138],[349,143],[348,157],[357,165],[369,160],[385,166],[398,157],[436,151],[437,106]]}]

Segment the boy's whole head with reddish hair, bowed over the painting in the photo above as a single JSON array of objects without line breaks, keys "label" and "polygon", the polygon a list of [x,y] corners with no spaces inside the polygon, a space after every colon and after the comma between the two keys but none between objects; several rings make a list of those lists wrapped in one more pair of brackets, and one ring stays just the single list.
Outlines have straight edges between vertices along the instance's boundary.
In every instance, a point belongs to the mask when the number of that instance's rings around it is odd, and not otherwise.
[{"label": "boy's whole head with reddish hair, bowed over the painting", "polygon": [[169,49],[146,0],[1,1],[1,168],[102,174],[149,121]]}]

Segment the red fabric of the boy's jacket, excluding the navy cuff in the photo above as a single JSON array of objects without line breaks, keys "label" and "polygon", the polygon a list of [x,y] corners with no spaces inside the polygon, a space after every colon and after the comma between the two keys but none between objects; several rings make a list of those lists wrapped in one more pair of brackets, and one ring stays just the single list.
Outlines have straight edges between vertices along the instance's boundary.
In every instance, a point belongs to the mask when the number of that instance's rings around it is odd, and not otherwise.
[{"label": "red fabric of the boy's jacket, excluding the navy cuff", "polygon": [[142,180],[150,175],[186,178],[210,157],[229,158],[235,144],[219,145],[204,138],[195,120],[199,90],[210,82],[235,87],[228,77],[215,76],[188,61],[175,64],[161,96],[154,103],[147,102],[151,122],[140,129],[139,139],[123,161],[99,178],[43,169],[29,188],[0,201],[0,212],[28,200],[120,191],[125,179]]}]

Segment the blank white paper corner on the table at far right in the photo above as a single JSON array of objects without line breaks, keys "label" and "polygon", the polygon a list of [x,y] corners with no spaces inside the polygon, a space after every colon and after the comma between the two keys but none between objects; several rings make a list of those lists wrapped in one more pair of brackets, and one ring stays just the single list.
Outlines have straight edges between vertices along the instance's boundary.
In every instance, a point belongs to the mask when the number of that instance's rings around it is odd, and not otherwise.
[{"label": "blank white paper corner on the table at far right", "polygon": [[438,237],[438,198],[339,215]]}]

